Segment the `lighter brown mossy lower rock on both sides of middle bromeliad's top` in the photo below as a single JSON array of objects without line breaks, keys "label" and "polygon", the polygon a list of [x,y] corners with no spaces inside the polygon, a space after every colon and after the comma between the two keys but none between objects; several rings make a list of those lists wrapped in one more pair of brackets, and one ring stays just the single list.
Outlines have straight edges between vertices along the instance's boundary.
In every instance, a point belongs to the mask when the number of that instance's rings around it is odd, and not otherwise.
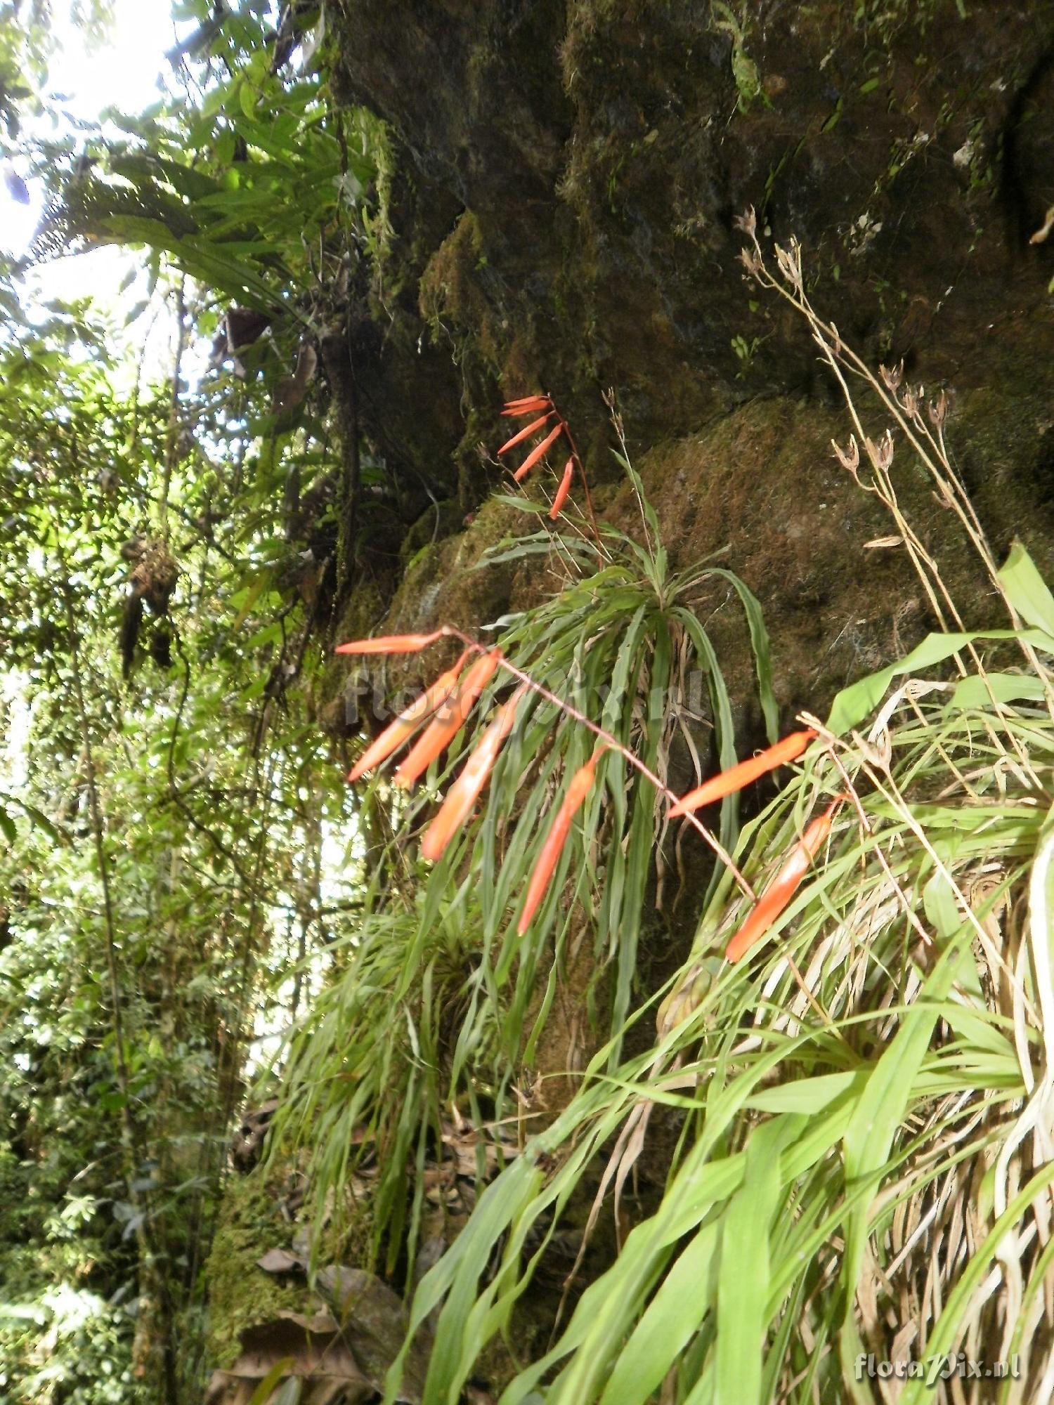
[{"label": "lighter brown mossy lower rock on both sides of middle bromeliad's top", "polygon": [[[984,358],[964,354],[954,368],[946,424],[953,462],[995,558],[1002,561],[1020,535],[1048,579],[1054,577],[1054,364],[1043,347],[1051,344],[1053,323],[1047,309],[1015,316],[1013,337]],[[866,393],[860,410],[878,437],[887,420]],[[715,565],[735,570],[760,599],[787,725],[801,708],[822,714],[840,687],[904,655],[937,627],[904,548],[876,545],[897,535],[895,523],[832,455],[831,441],[845,444],[849,430],[843,409],[779,395],[742,405],[638,459],[673,563],[689,568],[714,556]],[[1002,625],[999,603],[972,547],[902,443],[892,479],[964,622]],[[601,488],[597,509],[624,531],[638,530],[639,513],[627,485]],[[537,603],[552,590],[544,558],[485,563],[488,551],[534,525],[533,517],[486,503],[460,532],[424,545],[408,562],[391,607],[384,613],[374,599],[378,614],[358,632],[402,634],[448,622],[475,634],[502,614]],[[762,736],[762,719],[738,599],[715,579],[694,607],[718,651],[739,742],[753,745]],[[341,636],[353,636],[351,628]],[[437,646],[427,655],[388,660],[372,670],[374,691],[388,700],[420,687],[455,653],[451,643],[445,652]],[[341,684],[347,679],[343,660],[334,679]]]}]

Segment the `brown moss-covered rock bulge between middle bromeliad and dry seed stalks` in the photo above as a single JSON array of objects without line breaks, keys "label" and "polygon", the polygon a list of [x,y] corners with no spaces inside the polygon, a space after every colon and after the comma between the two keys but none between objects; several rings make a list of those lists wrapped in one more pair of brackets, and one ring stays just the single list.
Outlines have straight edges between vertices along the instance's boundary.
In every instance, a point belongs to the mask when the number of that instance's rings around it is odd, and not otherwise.
[{"label": "brown moss-covered rock bulge between middle bromeliad and dry seed stalks", "polygon": [[[638,464],[672,559],[689,566],[720,552],[718,563],[759,597],[787,724],[802,707],[822,715],[840,687],[905,653],[935,625],[908,555],[867,547],[895,528],[831,458],[831,440],[846,436],[840,410],[773,396],[656,445]],[[960,426],[953,441],[964,440]],[[953,514],[904,450],[894,476],[901,507],[939,561],[967,625],[991,624],[998,607]],[[623,489],[607,516],[632,531],[635,513]],[[715,579],[694,608],[721,662],[736,726],[756,738],[753,660],[739,604]]]}]

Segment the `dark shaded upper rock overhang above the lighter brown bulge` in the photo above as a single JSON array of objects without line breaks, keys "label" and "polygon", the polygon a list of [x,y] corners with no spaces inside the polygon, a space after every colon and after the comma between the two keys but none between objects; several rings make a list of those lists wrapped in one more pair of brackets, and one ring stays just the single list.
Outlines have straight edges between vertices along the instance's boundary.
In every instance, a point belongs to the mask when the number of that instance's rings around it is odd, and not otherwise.
[{"label": "dark shaded upper rock overhang above the lighter brown bulge", "polygon": [[[802,240],[846,336],[926,381],[1046,298],[1050,0],[343,0],[337,24],[346,91],[398,138],[392,260],[465,419],[545,386],[587,440],[614,385],[644,445],[811,385],[807,334],[741,278],[748,205]],[[455,457],[482,495],[476,441]]]}]

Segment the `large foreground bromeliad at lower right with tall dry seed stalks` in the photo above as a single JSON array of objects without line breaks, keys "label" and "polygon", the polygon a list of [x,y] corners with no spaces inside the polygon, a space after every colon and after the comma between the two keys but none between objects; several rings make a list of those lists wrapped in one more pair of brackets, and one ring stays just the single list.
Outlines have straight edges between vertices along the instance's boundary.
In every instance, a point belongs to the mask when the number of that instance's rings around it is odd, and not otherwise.
[{"label": "large foreground bromeliad at lower right with tall dry seed stalks", "polygon": [[[777,280],[745,229],[750,273],[808,319],[847,398],[864,378],[954,506],[1012,628],[932,635],[770,752],[802,764],[732,850],[759,902],[721,870],[691,955],[631,1016],[658,1003],[656,1045],[627,1057],[618,1031],[597,1051],[422,1281],[424,1405],[455,1399],[496,1335],[517,1359],[520,1304],[604,1163],[589,1225],[614,1186],[621,1252],[500,1405],[870,1402],[883,1360],[920,1363],[898,1373],[908,1405],[1009,1405],[1054,1380],[1054,596],[1020,547],[995,569],[942,402],[930,416],[897,372],[873,377],[809,305],[797,247]],[[849,403],[839,459],[870,462],[861,486],[897,514],[892,438]],[[898,531],[954,627],[923,544]],[[1017,648],[1017,667],[994,670],[989,646]],[[949,663],[957,680],[925,677]],[[763,960],[735,962],[748,948]],[[656,1106],[680,1118],[658,1205],[625,1193]]]}]

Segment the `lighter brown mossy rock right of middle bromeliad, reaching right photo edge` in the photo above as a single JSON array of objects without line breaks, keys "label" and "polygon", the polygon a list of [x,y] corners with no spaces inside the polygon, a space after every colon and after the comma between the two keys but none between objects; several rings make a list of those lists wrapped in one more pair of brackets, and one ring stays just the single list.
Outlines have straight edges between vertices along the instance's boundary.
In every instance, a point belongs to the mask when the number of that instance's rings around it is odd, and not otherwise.
[{"label": "lighter brown mossy rock right of middle bromeliad, reaching right photo edge", "polygon": [[[1037,320],[1050,337],[1051,319]],[[1036,365],[1039,326],[1030,337],[1022,332],[1016,355],[1003,357],[992,385],[968,384],[982,374],[980,364],[970,375],[960,370],[946,438],[995,559],[1003,561],[1020,537],[1054,579],[1054,368]],[[877,438],[887,420],[866,395],[860,409]],[[672,559],[690,566],[714,556],[759,597],[786,725],[801,708],[825,715],[839,688],[939,627],[906,551],[895,544],[897,524],[833,458],[832,440],[845,444],[849,429],[840,409],[774,396],[741,406],[708,431],[658,445],[639,464]],[[891,476],[965,627],[1003,627],[977,552],[902,438]],[[864,461],[861,481],[867,478]],[[632,530],[638,509],[628,489],[606,516]],[[762,719],[738,599],[715,579],[694,608],[721,660],[741,743],[755,743]]]}]

